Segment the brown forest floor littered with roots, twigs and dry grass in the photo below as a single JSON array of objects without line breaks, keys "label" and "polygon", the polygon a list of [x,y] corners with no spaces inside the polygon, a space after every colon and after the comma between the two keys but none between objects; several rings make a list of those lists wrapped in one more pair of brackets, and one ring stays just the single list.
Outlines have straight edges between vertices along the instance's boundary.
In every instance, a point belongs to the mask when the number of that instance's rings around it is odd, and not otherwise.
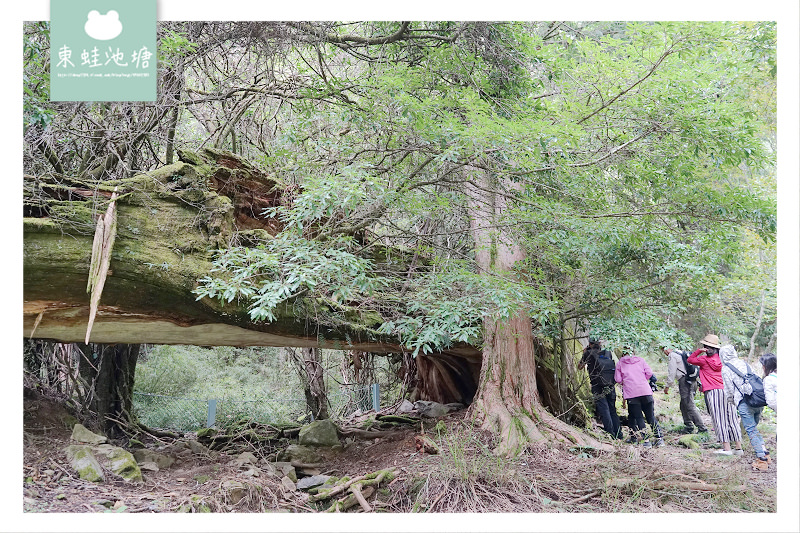
[{"label": "brown forest floor littered with roots, twigs and dry grass", "polygon": [[[659,402],[663,400],[658,400]],[[658,405],[657,405],[658,408]],[[143,472],[144,482],[107,479],[91,483],[69,466],[64,449],[71,431],[60,404],[26,400],[23,507],[26,513],[317,512],[302,491],[287,490],[270,476],[248,477],[234,461],[239,453],[189,454],[167,469]],[[778,457],[754,472],[752,450],[719,457],[718,445],[689,450],[667,432],[666,446],[644,449],[624,443],[613,451],[539,445],[514,459],[491,453],[492,437],[469,426],[463,411],[451,413],[425,434],[439,453],[420,453],[419,430],[352,441],[331,456],[322,474],[362,476],[392,469],[395,476],[369,498],[375,512],[775,512]],[[667,426],[667,425],[665,425]],[[667,429],[668,426],[667,426]],[[769,430],[769,428],[766,428]],[[747,438],[745,437],[745,441]],[[153,443],[148,444],[150,446]],[[226,482],[247,488],[236,503]],[[355,505],[349,512],[364,512]]]}]

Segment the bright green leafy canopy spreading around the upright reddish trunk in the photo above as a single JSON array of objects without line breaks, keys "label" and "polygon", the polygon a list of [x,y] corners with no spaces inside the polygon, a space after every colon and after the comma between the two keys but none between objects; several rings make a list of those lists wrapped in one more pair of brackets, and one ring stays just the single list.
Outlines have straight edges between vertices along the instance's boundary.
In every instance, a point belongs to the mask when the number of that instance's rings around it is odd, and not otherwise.
[{"label": "bright green leafy canopy spreading around the upright reddish trunk", "polygon": [[[357,105],[299,104],[264,158],[302,186],[266,213],[284,231],[257,250],[221,252],[198,294],[243,298],[259,320],[301,296],[373,310],[383,322],[374,333],[414,353],[477,343],[484,318],[519,308],[547,336],[574,319],[613,342],[686,344],[694,331],[683,317],[741,263],[744,231],[774,241],[774,192],[746,178],[774,162],[762,135],[774,105],[765,112],[753,97],[774,85],[774,26],[463,31],[413,60],[394,43],[385,61],[326,80],[357,85]],[[527,256],[513,276],[475,266],[471,202],[485,194],[464,184],[475,172],[509,196],[497,224]],[[383,264],[370,239],[425,267]]]}]

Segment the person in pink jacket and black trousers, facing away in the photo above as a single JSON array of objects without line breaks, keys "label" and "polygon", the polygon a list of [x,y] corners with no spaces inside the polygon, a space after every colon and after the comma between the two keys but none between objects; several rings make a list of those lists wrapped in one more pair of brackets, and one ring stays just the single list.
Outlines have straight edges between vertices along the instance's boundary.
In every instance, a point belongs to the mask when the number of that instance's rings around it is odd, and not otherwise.
[{"label": "person in pink jacket and black trousers, facing away", "polygon": [[[645,429],[644,421],[647,419],[656,438],[655,445],[663,446],[664,439],[661,436],[661,428],[658,426],[653,412],[653,391],[649,382],[652,375],[653,372],[645,360],[637,357],[630,346],[623,346],[622,357],[614,372],[614,380],[622,384],[622,398],[628,404],[628,422],[633,429],[628,442],[635,443],[642,440]],[[650,448],[650,440],[644,439],[642,446]]]}]

